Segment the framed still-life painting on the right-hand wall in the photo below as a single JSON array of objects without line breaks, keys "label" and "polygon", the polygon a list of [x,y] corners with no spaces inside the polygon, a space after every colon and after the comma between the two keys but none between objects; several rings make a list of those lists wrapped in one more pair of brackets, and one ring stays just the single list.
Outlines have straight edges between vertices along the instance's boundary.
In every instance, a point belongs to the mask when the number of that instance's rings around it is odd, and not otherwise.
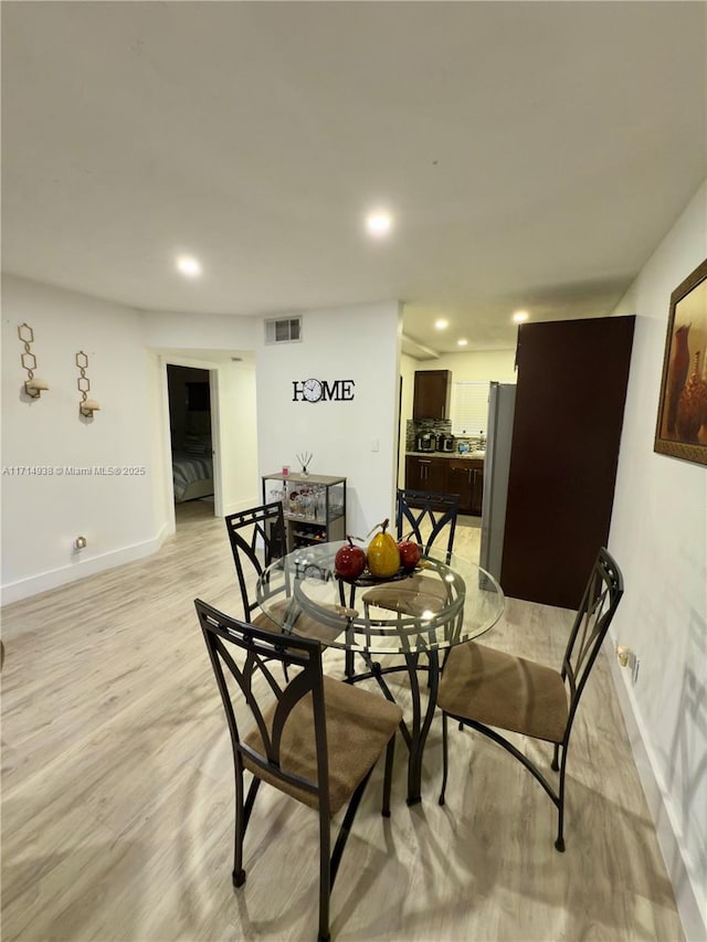
[{"label": "framed still-life painting on the right-hand wall", "polygon": [[671,295],[653,449],[707,465],[707,261]]}]

